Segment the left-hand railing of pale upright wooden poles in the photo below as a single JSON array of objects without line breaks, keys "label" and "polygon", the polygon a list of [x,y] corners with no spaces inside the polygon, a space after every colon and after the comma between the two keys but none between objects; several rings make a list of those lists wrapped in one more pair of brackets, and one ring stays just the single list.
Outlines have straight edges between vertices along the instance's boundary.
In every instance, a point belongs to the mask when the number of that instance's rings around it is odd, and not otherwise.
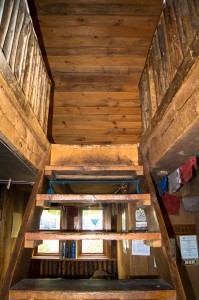
[{"label": "left-hand railing of pale upright wooden poles", "polygon": [[0,1],[0,72],[22,108],[30,105],[46,133],[50,80],[26,0]]}]

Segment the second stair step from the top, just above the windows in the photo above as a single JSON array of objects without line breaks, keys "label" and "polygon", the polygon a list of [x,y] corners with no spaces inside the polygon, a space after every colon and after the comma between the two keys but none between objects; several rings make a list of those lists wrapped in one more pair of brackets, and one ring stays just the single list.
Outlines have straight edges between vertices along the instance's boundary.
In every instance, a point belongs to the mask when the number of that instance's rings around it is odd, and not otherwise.
[{"label": "second stair step from the top, just above the windows", "polygon": [[51,203],[69,204],[96,204],[96,203],[130,203],[138,202],[139,205],[151,205],[150,194],[37,194],[36,206],[49,206]]}]

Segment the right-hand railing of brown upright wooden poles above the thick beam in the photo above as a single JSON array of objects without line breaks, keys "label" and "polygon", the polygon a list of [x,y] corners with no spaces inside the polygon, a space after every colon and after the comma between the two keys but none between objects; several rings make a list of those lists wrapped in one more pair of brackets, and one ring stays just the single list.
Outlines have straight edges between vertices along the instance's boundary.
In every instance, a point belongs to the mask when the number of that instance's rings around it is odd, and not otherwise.
[{"label": "right-hand railing of brown upright wooden poles above the thick beam", "polygon": [[198,56],[198,13],[198,1],[165,1],[140,81],[142,134],[155,127],[155,114],[169,105]]}]

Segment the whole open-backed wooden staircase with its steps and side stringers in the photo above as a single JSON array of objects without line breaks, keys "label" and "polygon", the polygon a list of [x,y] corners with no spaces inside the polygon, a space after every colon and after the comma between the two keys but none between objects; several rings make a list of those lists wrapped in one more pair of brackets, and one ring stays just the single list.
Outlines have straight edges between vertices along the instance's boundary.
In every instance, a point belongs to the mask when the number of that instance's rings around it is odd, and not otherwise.
[{"label": "whole open-backed wooden staircase with its steps and side stringers", "polygon": [[[57,146],[56,146],[57,147]],[[106,148],[106,147],[104,147]],[[108,180],[111,179],[123,179],[126,178],[139,178],[142,176],[143,168],[139,165],[134,165],[137,162],[137,154],[134,157],[129,156],[127,161],[126,157],[124,159],[123,153],[118,153],[117,159],[114,157],[113,152],[108,153],[108,148],[106,148],[106,155],[111,155],[111,165],[99,163],[99,153],[98,153],[98,164],[94,166],[88,166],[85,164],[85,153],[79,158],[79,164],[73,165],[72,163],[68,166],[66,163],[66,148],[60,145],[60,149],[57,153],[51,151],[51,163],[45,162],[45,168],[43,170],[43,175],[40,175],[40,184],[35,187],[33,194],[31,195],[32,209],[29,211],[29,216],[31,222],[26,224],[24,232],[24,248],[29,250],[36,247],[43,240],[143,240],[146,244],[154,247],[154,253],[159,256],[157,257],[156,264],[158,268],[157,278],[122,278],[119,274],[117,280],[64,280],[64,279],[23,279],[16,283],[16,280],[11,280],[12,287],[9,290],[9,299],[185,299],[184,292],[181,286],[181,281],[179,274],[174,262],[174,257],[170,249],[168,236],[165,231],[164,224],[159,226],[158,218],[156,216],[158,203],[154,198],[155,195],[152,191],[152,197],[150,194],[46,194],[44,190],[46,179],[74,179],[84,180],[84,176],[89,180],[104,178]],[[78,148],[78,150],[80,150]],[[85,149],[83,149],[84,151]],[[99,149],[98,149],[99,150]],[[103,150],[103,149],[101,149]],[[113,150],[113,149],[111,149]],[[136,153],[134,147],[134,152]],[[62,152],[62,154],[60,154]],[[56,153],[56,154],[55,154]],[[104,153],[102,151],[102,153]],[[57,157],[56,164],[54,156]],[[91,154],[90,154],[91,155]],[[90,157],[90,160],[95,159],[95,154]],[[132,161],[132,157],[134,162]],[[74,159],[78,158],[75,156],[74,149]],[[103,157],[100,158],[104,160]],[[53,161],[53,164],[52,164]],[[60,161],[63,163],[60,165]],[[124,161],[126,164],[124,164]],[[79,174],[79,175],[78,175]],[[79,177],[78,177],[79,176]],[[41,188],[42,186],[42,188]],[[34,198],[34,201],[33,201]],[[154,202],[155,199],[155,202]],[[128,203],[137,204],[138,207],[145,206],[151,208],[152,215],[150,217],[151,224],[148,225],[148,230],[138,231],[138,230],[128,230],[127,232],[120,231],[41,231],[38,230],[38,226],[35,226],[35,218],[38,209],[40,207],[50,207],[52,204],[57,205],[67,205],[67,204],[112,204],[112,203]],[[155,206],[153,205],[155,203]],[[155,209],[154,209],[155,207]],[[160,211],[158,211],[158,214]],[[161,218],[159,217],[159,220]],[[26,220],[27,222],[27,220]],[[161,221],[162,222],[162,221]],[[24,224],[22,224],[23,226]],[[160,230],[161,228],[161,230]],[[20,234],[19,234],[20,236]],[[22,249],[21,249],[22,250]],[[157,251],[156,251],[157,250]],[[31,251],[31,250],[30,250]],[[120,257],[118,256],[118,260]],[[15,264],[15,269],[17,266]]]}]

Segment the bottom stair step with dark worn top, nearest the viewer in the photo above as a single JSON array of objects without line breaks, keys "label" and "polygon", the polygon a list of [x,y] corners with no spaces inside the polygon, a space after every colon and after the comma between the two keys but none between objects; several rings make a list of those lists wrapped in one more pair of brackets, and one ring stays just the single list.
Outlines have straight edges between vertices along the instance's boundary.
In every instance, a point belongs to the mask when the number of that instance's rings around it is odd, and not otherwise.
[{"label": "bottom stair step with dark worn top, nearest the viewer", "polygon": [[162,279],[24,279],[9,291],[9,299],[176,299],[176,291]]}]

